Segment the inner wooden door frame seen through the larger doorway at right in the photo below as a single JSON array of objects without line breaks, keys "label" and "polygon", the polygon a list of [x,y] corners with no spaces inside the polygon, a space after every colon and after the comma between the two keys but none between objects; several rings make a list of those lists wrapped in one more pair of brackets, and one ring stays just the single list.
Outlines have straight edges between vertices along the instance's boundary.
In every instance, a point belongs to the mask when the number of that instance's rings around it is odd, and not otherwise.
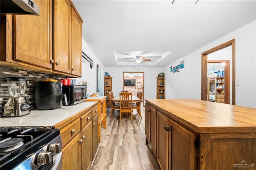
[{"label": "inner wooden door frame seen through the larger doorway at right", "polygon": [[207,63],[225,63],[225,98],[224,103],[230,104],[230,60],[208,60]]}]

